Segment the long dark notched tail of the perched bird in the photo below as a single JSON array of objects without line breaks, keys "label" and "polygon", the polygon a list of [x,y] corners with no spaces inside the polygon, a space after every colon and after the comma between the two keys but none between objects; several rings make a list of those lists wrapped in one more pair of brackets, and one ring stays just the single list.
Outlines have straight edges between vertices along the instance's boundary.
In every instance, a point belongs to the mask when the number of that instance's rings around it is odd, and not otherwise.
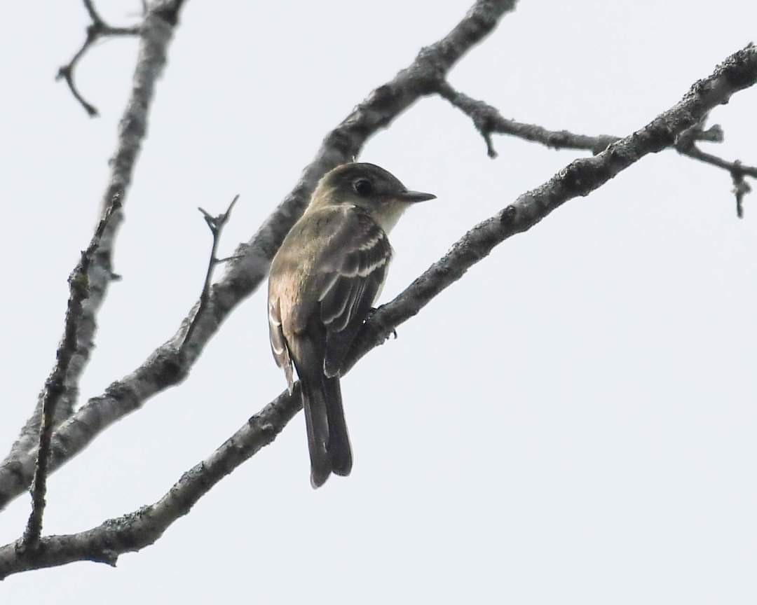
[{"label": "long dark notched tail of the perched bird", "polygon": [[349,475],[352,449],[344,422],[338,377],[323,374],[301,377],[302,404],[310,450],[310,483],[314,488],[326,482],[331,473]]}]

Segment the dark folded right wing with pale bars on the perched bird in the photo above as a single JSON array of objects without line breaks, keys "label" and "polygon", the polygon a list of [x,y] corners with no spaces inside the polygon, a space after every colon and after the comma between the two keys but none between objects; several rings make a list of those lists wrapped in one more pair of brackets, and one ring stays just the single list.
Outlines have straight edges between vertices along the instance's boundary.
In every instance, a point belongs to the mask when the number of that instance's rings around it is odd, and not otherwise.
[{"label": "dark folded right wing with pale bars on the perched bird", "polygon": [[341,361],[378,297],[391,261],[385,232],[366,213],[344,209],[313,273],[326,328],[324,373],[337,376]]}]

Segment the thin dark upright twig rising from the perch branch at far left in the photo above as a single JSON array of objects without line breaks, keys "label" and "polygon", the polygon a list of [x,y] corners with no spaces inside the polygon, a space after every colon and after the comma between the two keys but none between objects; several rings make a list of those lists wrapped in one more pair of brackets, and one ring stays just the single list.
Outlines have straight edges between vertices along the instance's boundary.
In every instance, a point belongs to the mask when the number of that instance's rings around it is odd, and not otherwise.
[{"label": "thin dark upright twig rising from the perch branch at far left", "polygon": [[79,321],[82,320],[82,304],[89,296],[89,267],[100,245],[107,223],[121,207],[120,200],[112,200],[107,213],[100,219],[89,247],[83,251],[79,263],[68,278],[70,296],[64,322],[64,337],[58,346],[56,358],[58,363],[45,382],[45,395],[42,399],[42,422],[39,426],[39,447],[32,481],[32,511],[21,538],[20,551],[34,551],[42,535],[42,516],[45,513],[45,495],[47,492],[48,462],[50,460],[50,440],[53,430],[53,418],[58,401],[66,391],[65,378],[73,356],[76,354],[76,334]]}]

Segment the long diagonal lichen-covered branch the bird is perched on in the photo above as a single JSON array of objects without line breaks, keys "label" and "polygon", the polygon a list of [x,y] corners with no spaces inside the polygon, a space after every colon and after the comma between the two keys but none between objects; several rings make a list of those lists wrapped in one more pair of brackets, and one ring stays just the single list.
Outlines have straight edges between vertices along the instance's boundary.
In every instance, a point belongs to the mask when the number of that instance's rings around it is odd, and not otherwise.
[{"label": "long diagonal lichen-covered branch the bird is perched on", "polygon": [[[358,337],[347,367],[384,342],[391,330],[416,315],[444,288],[461,278],[476,262],[507,237],[526,231],[574,197],[585,196],[642,157],[674,144],[676,137],[696,124],[715,105],[757,82],[757,48],[749,46],[728,57],[709,78],[692,86],[684,98],[642,129],[609,145],[594,157],[565,166],[544,185],[522,194],[513,203],[466,233],[443,258],[393,301],[379,308]],[[76,560],[114,564],[119,554],[154,543],[173,521],[188,510],[220,479],[272,442],[300,407],[299,384],[294,394],[282,392],[205,461],[179,479],[160,501],[134,513],[108,520],[73,535],[42,538],[39,557],[27,559],[17,544],[0,548],[0,579],[27,569],[62,565]]]}]

